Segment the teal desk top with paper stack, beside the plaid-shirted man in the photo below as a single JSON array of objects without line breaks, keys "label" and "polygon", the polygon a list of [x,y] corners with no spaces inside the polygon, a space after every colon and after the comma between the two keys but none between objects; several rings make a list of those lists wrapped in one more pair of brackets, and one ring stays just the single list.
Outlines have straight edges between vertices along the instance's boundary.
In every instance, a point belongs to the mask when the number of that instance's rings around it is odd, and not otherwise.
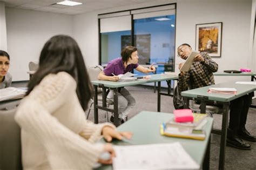
[{"label": "teal desk top with paper stack, beside the plaid-shirted man", "polygon": [[[207,93],[209,87],[228,87],[228,88],[235,88],[237,89],[237,94],[213,94],[213,93]],[[231,100],[234,100],[236,98],[239,98],[241,96],[244,96],[247,93],[253,92],[256,90],[255,85],[247,85],[247,84],[235,84],[235,83],[219,83],[211,86],[205,86],[198,89],[193,90],[187,90],[181,92],[181,96],[184,97],[191,97],[191,98],[206,98],[208,100],[213,101],[222,101],[222,102],[228,102]]]}]

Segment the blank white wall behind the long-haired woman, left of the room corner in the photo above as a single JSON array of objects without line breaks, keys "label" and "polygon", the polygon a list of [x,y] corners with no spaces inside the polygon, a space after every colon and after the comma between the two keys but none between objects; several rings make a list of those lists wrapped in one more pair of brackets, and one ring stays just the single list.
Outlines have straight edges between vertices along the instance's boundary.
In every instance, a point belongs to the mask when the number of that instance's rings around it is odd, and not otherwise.
[{"label": "blank white wall behind the long-haired woman, left of the room corner", "polygon": [[73,35],[73,16],[6,8],[6,28],[12,80],[28,80],[28,64],[38,61],[46,40],[58,34]]}]

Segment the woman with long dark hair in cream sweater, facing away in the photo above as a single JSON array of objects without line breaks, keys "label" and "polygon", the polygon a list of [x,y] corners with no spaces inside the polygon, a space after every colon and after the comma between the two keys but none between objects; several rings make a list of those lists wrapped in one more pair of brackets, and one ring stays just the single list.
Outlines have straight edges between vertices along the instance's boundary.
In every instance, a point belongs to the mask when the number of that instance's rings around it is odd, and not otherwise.
[{"label": "woman with long dark hair in cream sweater, facing away", "polygon": [[[111,141],[131,133],[85,120],[91,90],[76,41],[64,35],[48,40],[15,116],[22,128],[23,169],[91,169],[97,161],[112,163],[112,146],[93,143],[102,135]],[[110,153],[109,160],[99,159],[103,152]]]}]

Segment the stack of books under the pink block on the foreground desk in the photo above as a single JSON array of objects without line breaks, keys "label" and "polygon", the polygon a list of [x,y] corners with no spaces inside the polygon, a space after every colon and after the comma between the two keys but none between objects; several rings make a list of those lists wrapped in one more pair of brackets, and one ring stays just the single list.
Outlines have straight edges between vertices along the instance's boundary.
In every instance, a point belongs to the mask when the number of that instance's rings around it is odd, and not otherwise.
[{"label": "stack of books under the pink block on the foreground desk", "polygon": [[193,121],[177,122],[175,118],[160,126],[160,133],[168,137],[204,140],[207,114],[193,113]]}]

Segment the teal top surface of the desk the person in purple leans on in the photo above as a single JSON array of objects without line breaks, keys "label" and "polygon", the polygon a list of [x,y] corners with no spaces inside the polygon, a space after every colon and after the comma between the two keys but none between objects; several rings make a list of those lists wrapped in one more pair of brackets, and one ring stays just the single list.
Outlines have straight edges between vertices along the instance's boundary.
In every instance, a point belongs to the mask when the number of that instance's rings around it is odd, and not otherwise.
[{"label": "teal top surface of the desk the person in purple leans on", "polygon": [[125,87],[125,86],[133,86],[145,83],[152,83],[156,81],[164,81],[164,80],[173,80],[178,79],[178,76],[163,76],[161,74],[151,74],[151,78],[148,80],[144,79],[137,79],[133,81],[106,81],[106,80],[94,80],[91,81],[93,85],[99,86],[100,84],[104,85],[105,87],[110,88],[118,88],[118,87]]}]

